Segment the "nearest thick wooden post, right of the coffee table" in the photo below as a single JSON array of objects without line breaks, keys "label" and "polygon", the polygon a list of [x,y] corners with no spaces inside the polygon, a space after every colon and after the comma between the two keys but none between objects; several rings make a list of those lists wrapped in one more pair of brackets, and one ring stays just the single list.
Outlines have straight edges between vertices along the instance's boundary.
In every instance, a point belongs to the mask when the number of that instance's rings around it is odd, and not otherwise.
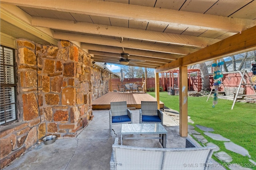
[{"label": "nearest thick wooden post, right of the coffee table", "polygon": [[180,136],[188,136],[188,67],[179,67]]}]

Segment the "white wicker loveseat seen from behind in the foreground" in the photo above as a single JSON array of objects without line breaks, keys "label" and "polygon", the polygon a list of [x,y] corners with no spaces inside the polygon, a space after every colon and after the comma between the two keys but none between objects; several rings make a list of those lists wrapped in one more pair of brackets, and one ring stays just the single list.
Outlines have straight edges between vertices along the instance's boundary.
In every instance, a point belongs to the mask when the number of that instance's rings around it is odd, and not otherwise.
[{"label": "white wicker loveseat seen from behind in the foreground", "polygon": [[215,147],[196,147],[186,139],[186,148],[143,148],[112,145],[110,170],[205,170]]}]

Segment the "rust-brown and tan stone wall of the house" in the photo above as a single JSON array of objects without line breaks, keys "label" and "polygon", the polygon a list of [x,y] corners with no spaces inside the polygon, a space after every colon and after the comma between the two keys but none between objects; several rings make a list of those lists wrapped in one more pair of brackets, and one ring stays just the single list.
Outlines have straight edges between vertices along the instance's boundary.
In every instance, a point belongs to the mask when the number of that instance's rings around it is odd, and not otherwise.
[{"label": "rust-brown and tan stone wall of the house", "polygon": [[0,129],[1,168],[47,135],[76,137],[93,117],[92,93],[108,92],[108,73],[69,41],[48,47],[18,39],[17,47],[18,122]]}]

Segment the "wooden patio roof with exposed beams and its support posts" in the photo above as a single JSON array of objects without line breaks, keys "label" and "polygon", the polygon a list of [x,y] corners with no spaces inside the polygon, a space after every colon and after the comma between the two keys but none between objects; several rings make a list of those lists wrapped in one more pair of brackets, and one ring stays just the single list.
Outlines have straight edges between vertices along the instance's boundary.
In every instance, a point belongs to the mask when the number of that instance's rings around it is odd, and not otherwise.
[{"label": "wooden patio roof with exposed beams and its support posts", "polygon": [[[92,61],[179,69],[180,135],[188,135],[188,66],[256,49],[255,0],[1,0],[8,35],[84,49]],[[127,57],[127,56],[126,56]],[[156,84],[159,107],[159,84]]]}]

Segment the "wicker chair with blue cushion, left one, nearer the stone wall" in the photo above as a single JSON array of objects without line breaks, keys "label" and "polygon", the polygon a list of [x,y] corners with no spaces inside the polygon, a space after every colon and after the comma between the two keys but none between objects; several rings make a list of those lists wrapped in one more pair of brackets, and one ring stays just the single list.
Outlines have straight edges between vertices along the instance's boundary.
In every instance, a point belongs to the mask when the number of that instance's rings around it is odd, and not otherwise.
[{"label": "wicker chair with blue cushion, left one, nearer the stone wall", "polygon": [[109,110],[109,127],[110,136],[112,136],[112,125],[132,123],[132,112],[127,109],[126,101],[124,102],[110,102]]}]

